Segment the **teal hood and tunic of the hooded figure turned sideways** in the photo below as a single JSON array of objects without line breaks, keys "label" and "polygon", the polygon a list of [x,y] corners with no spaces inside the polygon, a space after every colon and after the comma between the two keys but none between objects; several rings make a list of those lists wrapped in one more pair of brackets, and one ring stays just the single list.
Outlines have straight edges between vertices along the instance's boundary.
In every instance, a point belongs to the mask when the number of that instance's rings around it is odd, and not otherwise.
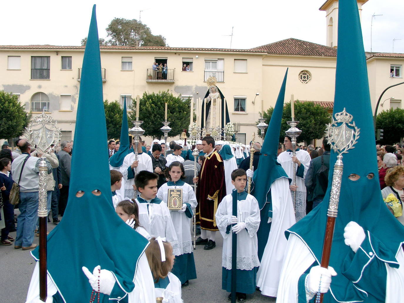
[{"label": "teal hood and tunic of the hooded figure turned sideways", "polygon": [[280,178],[287,178],[289,183],[291,181],[277,160],[287,76],[288,69],[286,69],[278,99],[275,103],[274,112],[269,121],[267,133],[265,134],[258,168],[255,170],[254,176],[252,177],[251,194],[257,199],[259,209],[261,210],[261,223],[259,224],[259,229],[257,231],[258,258],[260,261],[265,246],[267,245],[269,231],[271,229],[271,223],[268,223],[268,218],[272,217],[272,199],[270,194],[272,183]]}]

